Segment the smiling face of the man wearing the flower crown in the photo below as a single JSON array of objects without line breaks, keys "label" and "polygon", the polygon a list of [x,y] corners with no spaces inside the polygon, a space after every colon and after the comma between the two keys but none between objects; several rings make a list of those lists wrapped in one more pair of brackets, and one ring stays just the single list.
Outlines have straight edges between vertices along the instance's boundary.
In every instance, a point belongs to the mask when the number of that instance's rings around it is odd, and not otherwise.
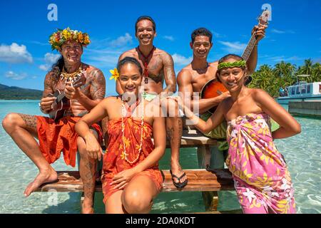
[{"label": "smiling face of the man wearing the flower crown", "polygon": [[83,46],[76,41],[66,41],[58,51],[61,53],[61,56],[63,56],[65,63],[73,65],[81,61]]}]

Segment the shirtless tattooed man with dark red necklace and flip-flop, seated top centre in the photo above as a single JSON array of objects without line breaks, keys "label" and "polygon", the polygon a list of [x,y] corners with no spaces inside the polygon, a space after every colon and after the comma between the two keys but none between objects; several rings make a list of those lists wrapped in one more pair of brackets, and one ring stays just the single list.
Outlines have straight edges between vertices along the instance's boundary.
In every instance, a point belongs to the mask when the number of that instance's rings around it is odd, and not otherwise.
[{"label": "shirtless tattooed man with dark red necklace and flip-flop, seated top centre", "polygon": [[[139,46],[121,54],[119,60],[128,57],[136,58],[143,67],[143,95],[146,100],[153,100],[161,94],[161,103],[167,110],[178,110],[177,103],[171,99],[164,99],[176,91],[176,79],[173,58],[165,51],[153,46],[156,36],[156,24],[150,16],[141,16],[136,21],[136,38]],[[166,87],[163,88],[165,80]],[[116,83],[118,94],[123,94],[119,82]],[[187,185],[187,177],[179,164],[180,138],[182,136],[182,122],[178,112],[170,113],[166,119],[167,138],[170,140],[173,184],[176,187]]]}]

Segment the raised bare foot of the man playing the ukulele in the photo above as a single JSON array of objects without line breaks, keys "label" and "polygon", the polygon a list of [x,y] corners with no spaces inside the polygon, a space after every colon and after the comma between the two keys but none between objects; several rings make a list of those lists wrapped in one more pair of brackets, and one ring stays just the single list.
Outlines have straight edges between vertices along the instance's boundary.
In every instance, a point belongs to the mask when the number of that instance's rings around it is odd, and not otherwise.
[{"label": "raised bare foot of the man playing the ukulele", "polygon": [[57,180],[57,172],[51,169],[47,172],[39,172],[33,182],[31,182],[24,190],[24,196],[29,197],[29,195],[34,192],[40,185],[48,182],[53,182]]}]

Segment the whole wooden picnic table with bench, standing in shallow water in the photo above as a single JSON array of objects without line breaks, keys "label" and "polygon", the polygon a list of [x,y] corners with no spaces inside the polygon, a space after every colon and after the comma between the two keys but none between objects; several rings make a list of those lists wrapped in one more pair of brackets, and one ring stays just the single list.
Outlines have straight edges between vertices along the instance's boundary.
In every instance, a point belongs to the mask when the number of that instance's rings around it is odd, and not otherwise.
[{"label": "whole wooden picnic table with bench, standing in shallow water", "polygon": [[[183,170],[188,176],[188,185],[183,189],[178,189],[173,185],[169,170],[162,170],[164,182],[163,192],[193,191],[202,192],[205,209],[208,212],[217,211],[218,191],[235,190],[232,175],[227,169],[210,170],[210,146],[217,146],[218,142],[207,138],[196,130],[183,131],[180,147],[198,148],[198,166],[199,169]],[[170,147],[167,142],[166,147]],[[60,171],[58,172],[58,182],[42,185],[37,192],[48,192],[56,190],[58,192],[83,192],[83,183],[81,182],[78,171]],[[96,191],[101,192],[101,182],[96,183]]]}]

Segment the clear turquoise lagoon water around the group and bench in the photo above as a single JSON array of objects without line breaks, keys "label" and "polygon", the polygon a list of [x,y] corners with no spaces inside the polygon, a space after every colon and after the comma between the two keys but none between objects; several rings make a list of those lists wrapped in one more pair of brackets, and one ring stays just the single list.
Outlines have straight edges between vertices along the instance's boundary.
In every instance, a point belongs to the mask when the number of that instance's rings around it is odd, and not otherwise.
[{"label": "clear turquoise lagoon water around the group and bench", "polygon": [[[0,100],[0,121],[7,113],[41,115],[35,100]],[[285,107],[287,108],[287,107]],[[321,212],[321,120],[295,117],[302,133],[285,140],[275,140],[278,150],[285,156],[295,187],[298,213]],[[181,149],[184,169],[197,168],[194,148]],[[169,168],[170,150],[160,162],[161,169]],[[54,165],[56,170],[76,170],[66,167],[63,159]],[[77,192],[35,192],[26,198],[24,189],[34,180],[37,169],[0,128],[0,213],[79,213],[81,195]],[[235,192],[220,192],[218,209],[240,208]],[[97,193],[95,210],[103,213],[103,196]],[[152,213],[188,213],[205,211],[200,192],[161,193],[156,198]]]}]

